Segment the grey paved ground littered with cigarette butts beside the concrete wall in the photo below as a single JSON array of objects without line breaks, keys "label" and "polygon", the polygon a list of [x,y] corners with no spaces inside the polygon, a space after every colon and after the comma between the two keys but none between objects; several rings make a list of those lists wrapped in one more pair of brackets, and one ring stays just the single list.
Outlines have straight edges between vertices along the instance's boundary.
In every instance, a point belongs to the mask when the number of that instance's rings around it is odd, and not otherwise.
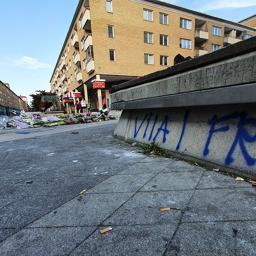
[{"label": "grey paved ground littered with cigarette butts beside the concrete wall", "polygon": [[[44,165],[33,176],[22,163],[14,163],[21,173],[24,168],[27,177],[15,186],[10,181],[5,191],[0,190],[4,204],[0,206],[0,236],[1,232],[5,236],[1,256],[256,255],[255,187],[183,161],[132,152],[140,149],[111,138],[115,125],[81,128],[76,135],[52,134],[54,148],[50,140],[38,137],[45,155],[58,152],[44,158],[54,172],[44,172]],[[96,134],[100,135],[93,136]],[[67,148],[68,139],[74,136],[76,143]],[[81,145],[81,141],[87,143]],[[27,142],[17,143],[25,152]],[[33,164],[38,150],[29,154]],[[68,166],[70,161],[75,161],[72,166]],[[2,172],[2,165],[0,168]],[[7,169],[4,173],[11,180],[17,178]],[[34,183],[24,186],[28,179]],[[83,189],[87,191],[79,195]],[[9,215],[18,204],[16,196],[26,204],[29,197],[24,193],[37,194],[38,190],[41,198],[50,197],[50,201],[43,204],[38,197],[23,215],[18,210]],[[9,205],[12,208],[7,209]],[[21,211],[22,205],[18,207]],[[101,236],[99,230],[109,226],[113,230]]]}]

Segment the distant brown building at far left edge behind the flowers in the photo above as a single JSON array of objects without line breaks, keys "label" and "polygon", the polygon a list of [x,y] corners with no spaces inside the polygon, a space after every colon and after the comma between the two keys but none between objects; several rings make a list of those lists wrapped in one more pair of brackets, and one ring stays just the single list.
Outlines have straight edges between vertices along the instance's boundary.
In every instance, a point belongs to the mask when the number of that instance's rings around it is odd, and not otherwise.
[{"label": "distant brown building at far left edge behind the flowers", "polygon": [[29,111],[29,105],[17,96],[7,85],[0,81],[0,116],[12,116],[24,109]]}]

